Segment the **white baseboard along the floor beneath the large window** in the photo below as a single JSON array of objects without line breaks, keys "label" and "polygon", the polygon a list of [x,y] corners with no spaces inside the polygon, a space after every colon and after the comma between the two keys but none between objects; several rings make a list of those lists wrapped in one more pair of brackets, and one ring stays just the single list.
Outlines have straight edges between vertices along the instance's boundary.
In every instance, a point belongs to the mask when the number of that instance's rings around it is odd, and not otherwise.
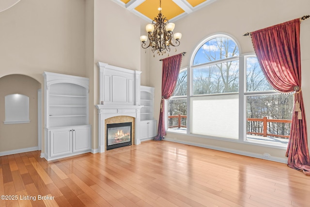
[{"label": "white baseboard along the floor beneath the large window", "polygon": [[229,152],[229,153],[233,153],[237,155],[244,155],[244,156],[248,156],[252,158],[259,158],[259,159],[266,159],[266,160],[275,161],[275,162],[287,163],[287,158],[285,159],[285,158],[279,158],[279,157],[272,157],[269,154],[250,153],[250,152],[234,150],[234,149],[229,149],[229,148],[224,148],[224,147],[217,147],[217,146],[212,146],[212,145],[207,145],[207,144],[202,144],[202,143],[192,143],[192,142],[180,141],[180,140],[169,139],[169,138],[165,138],[165,140],[170,141],[170,142],[175,142],[175,143],[183,143],[183,144],[199,146],[199,147],[203,147],[207,149],[214,149],[218,151]]}]

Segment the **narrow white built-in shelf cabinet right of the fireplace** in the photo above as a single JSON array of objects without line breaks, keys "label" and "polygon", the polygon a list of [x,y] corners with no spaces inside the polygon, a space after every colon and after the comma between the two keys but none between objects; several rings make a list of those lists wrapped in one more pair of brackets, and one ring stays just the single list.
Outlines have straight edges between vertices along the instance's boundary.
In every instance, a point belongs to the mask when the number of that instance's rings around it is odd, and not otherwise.
[{"label": "narrow white built-in shelf cabinet right of the fireplace", "polygon": [[140,86],[140,141],[151,140],[156,136],[157,122],[154,119],[154,88]]}]

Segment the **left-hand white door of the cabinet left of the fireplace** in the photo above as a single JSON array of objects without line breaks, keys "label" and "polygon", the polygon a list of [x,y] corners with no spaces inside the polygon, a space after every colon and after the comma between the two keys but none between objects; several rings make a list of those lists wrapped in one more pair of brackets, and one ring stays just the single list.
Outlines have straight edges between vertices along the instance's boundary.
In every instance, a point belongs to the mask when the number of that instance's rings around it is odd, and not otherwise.
[{"label": "left-hand white door of the cabinet left of the fireplace", "polygon": [[50,131],[50,157],[72,153],[72,130],[69,128]]}]

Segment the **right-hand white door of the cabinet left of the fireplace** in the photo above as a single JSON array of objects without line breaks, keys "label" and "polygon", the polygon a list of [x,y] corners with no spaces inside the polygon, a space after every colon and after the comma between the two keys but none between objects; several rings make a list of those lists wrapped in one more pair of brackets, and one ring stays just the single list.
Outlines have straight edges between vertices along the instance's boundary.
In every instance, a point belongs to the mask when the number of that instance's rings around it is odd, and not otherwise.
[{"label": "right-hand white door of the cabinet left of the fireplace", "polygon": [[91,149],[91,127],[73,129],[73,152]]}]

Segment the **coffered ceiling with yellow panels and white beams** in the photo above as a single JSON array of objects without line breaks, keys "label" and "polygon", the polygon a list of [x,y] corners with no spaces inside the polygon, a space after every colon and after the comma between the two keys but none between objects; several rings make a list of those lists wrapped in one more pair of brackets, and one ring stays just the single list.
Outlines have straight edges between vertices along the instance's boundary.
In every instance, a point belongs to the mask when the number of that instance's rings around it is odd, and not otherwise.
[{"label": "coffered ceiling with yellow panels and white beams", "polygon": [[[152,21],[159,13],[159,0],[113,0],[141,18]],[[170,22],[180,19],[216,0],[161,0],[161,13]]]}]

